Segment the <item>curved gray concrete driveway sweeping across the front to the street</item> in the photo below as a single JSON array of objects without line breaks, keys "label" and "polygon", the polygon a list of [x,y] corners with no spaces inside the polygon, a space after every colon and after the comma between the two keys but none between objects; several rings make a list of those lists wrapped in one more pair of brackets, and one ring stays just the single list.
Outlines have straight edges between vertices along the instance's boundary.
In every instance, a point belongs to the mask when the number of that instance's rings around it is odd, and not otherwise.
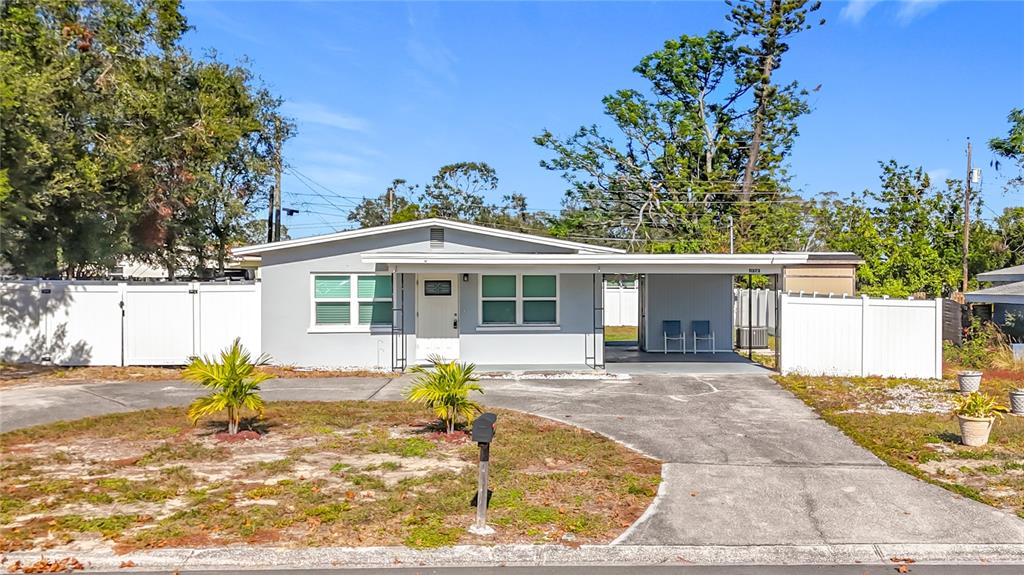
[{"label": "curved gray concrete driveway sweeping across the front to the street", "polygon": [[[271,401],[399,399],[407,383],[290,380],[264,390]],[[887,467],[766,375],[482,385],[486,404],[581,426],[665,461],[657,499],[618,543],[1024,545],[1024,521]],[[2,390],[0,430],[185,404],[197,395],[178,382]]]}]

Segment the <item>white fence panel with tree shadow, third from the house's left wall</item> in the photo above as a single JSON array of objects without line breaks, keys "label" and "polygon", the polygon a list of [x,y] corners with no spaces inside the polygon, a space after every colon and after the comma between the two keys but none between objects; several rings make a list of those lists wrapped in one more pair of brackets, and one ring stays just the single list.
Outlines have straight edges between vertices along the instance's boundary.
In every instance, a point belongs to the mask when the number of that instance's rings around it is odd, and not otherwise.
[{"label": "white fence panel with tree shadow, third from the house's left wall", "polygon": [[121,364],[121,293],[117,283],[45,282],[46,347],[59,365]]}]

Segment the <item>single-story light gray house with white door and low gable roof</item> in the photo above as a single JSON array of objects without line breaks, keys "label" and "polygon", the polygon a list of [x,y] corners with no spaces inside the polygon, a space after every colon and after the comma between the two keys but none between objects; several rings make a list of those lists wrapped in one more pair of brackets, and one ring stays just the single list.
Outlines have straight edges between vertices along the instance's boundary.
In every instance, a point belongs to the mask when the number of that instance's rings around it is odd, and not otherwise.
[{"label": "single-story light gray house with white door and low gable roof", "polygon": [[[605,274],[637,274],[638,353],[733,351],[735,275],[852,254],[627,254],[442,219],[236,249],[259,256],[262,349],[308,367],[602,366]],[[666,321],[684,341],[670,340]],[[695,326],[714,336],[693,341]],[[703,335],[703,334],[699,334]]]}]

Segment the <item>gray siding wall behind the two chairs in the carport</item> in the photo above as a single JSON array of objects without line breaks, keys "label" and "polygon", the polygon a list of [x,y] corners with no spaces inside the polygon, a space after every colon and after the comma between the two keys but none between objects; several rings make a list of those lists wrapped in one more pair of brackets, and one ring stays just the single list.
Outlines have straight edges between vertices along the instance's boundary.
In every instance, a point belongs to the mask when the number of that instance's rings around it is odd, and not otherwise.
[{"label": "gray siding wall behind the two chairs in the carport", "polygon": [[[726,274],[649,274],[647,276],[647,351],[663,351],[662,321],[679,319],[686,333],[686,349],[693,349],[690,322],[707,319],[718,351],[732,351],[732,276]],[[669,349],[678,349],[670,342]],[[700,351],[710,348],[700,342]]]}]

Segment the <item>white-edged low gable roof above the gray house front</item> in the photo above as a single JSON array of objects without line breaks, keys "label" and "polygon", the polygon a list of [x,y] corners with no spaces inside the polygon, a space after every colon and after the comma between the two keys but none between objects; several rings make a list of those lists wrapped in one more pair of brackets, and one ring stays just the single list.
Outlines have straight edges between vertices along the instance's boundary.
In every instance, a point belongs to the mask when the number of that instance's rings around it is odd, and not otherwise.
[{"label": "white-edged low gable roof above the gray house front", "polygon": [[592,244],[581,244],[579,241],[568,241],[566,239],[558,239],[557,237],[546,237],[543,235],[534,235],[529,233],[520,233],[518,231],[508,231],[504,229],[496,229],[492,227],[485,227],[476,224],[467,224],[465,222],[456,222],[452,220],[445,220],[441,218],[428,218],[425,220],[416,220],[412,222],[402,222],[398,224],[389,224],[376,227],[367,227],[361,229],[353,229],[347,231],[339,231],[337,233],[328,233],[324,235],[312,235],[309,237],[300,237],[298,239],[286,239],[284,241],[274,241],[272,244],[257,244],[254,246],[245,246],[242,248],[236,248],[231,250],[231,253],[236,256],[256,256],[260,254],[265,254],[267,252],[276,252],[280,250],[289,250],[292,248],[300,248],[303,246],[314,246],[317,244],[327,244],[331,241],[341,241],[344,239],[352,239],[355,237],[367,237],[372,235],[377,235],[381,233],[390,233],[394,231],[403,231],[409,229],[419,229],[424,227],[443,227],[449,229],[456,229],[460,231],[466,231],[470,233],[479,233],[483,235],[492,235],[495,237],[502,237],[505,239],[517,239],[519,241],[528,241],[531,244],[537,244],[540,246],[553,246],[556,248],[565,248],[569,250],[575,250],[584,253],[598,253],[598,254],[622,254],[625,250],[620,250],[618,248],[607,248],[604,246],[594,246]]}]

